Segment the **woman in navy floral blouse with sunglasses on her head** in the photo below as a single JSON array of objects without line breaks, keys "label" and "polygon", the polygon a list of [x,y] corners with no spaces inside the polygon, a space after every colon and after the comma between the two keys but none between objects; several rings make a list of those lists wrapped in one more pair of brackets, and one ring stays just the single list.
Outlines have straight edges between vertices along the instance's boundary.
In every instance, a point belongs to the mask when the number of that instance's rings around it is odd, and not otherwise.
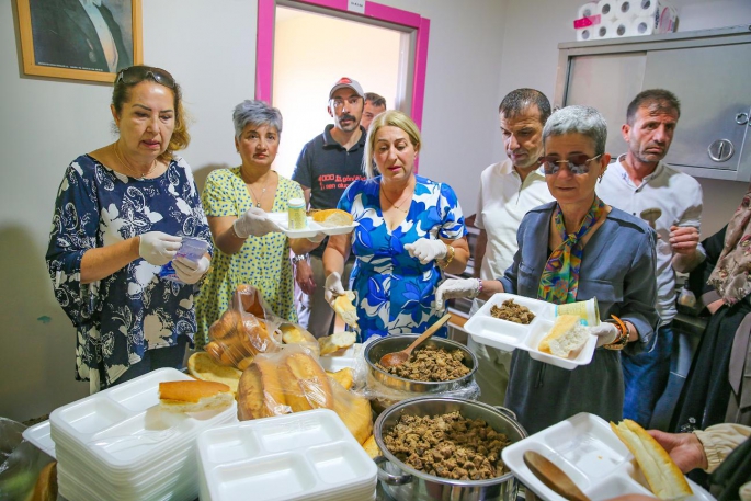
[{"label": "woman in navy floral blouse with sunglasses on her head", "polygon": [[[196,330],[197,282],[210,253],[175,258],[183,238],[210,234],[185,148],[180,87],[160,68],[117,73],[110,106],[117,140],[66,170],[47,267],[78,331],[76,378],[92,392],[159,367],[180,367]],[[172,262],[173,277],[160,277]]]}]

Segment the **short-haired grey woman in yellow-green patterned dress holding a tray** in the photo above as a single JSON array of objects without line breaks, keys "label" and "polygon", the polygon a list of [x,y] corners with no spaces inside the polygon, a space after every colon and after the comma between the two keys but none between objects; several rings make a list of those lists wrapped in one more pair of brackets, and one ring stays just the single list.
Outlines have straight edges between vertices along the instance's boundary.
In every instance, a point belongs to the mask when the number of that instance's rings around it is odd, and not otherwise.
[{"label": "short-haired grey woman in yellow-green patterned dress holding a tray", "polygon": [[286,212],[289,198],[304,198],[298,183],[271,168],[282,113],[262,101],[243,101],[235,106],[232,122],[242,163],[208,174],[202,194],[216,254],[196,305],[198,348],[208,342],[208,328],[229,307],[238,285],[254,286],[276,316],[297,322],[289,249],[304,254],[320,242],[287,238],[266,214]]}]

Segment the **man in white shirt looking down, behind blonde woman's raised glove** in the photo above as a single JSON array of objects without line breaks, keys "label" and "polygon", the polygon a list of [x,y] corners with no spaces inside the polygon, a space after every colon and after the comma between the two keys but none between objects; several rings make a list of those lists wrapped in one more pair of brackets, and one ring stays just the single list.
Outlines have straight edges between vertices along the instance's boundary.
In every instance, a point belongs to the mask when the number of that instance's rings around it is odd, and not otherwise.
[{"label": "man in white shirt looking down, behind blonde woman's raised glove", "polygon": [[[537,159],[543,156],[543,127],[550,116],[547,98],[534,89],[516,89],[499,106],[501,134],[508,159],[488,167],[480,177],[475,226],[475,276],[496,280],[503,275],[516,253],[516,230],[533,207],[553,201]],[[485,301],[475,299],[470,314]],[[480,400],[502,406],[509,383],[511,352],[467,341],[478,357],[475,378]]]}]

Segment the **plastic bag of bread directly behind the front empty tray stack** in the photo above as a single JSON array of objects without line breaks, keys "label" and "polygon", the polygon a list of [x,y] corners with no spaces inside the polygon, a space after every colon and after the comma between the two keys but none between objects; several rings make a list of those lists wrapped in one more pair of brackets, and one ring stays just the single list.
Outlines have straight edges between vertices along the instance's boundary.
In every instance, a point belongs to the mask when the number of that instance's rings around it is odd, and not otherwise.
[{"label": "plastic bag of bread directly behind the front empty tray stack", "polygon": [[240,421],[334,408],[331,380],[298,344],[255,356],[240,376],[237,401]]}]

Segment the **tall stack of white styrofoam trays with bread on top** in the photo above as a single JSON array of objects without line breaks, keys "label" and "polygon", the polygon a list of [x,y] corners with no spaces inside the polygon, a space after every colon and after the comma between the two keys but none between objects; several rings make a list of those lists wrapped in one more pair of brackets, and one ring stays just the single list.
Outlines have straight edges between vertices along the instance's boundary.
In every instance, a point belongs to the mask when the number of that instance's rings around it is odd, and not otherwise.
[{"label": "tall stack of white styrofoam trays with bread on top", "polygon": [[190,379],[161,368],[53,411],[60,494],[92,501],[194,500],[196,437],[237,422],[237,405],[197,413],[161,410],[159,383]]}]

